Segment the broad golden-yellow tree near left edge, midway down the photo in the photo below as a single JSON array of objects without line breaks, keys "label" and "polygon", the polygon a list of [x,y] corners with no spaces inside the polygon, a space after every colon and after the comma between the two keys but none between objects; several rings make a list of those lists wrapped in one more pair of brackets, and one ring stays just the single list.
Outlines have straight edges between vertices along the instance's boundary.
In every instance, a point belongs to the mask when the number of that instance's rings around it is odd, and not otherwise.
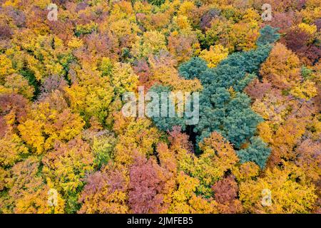
[{"label": "broad golden-yellow tree near left edge, midway down the photo", "polygon": [[18,126],[21,138],[36,154],[50,150],[55,140],[71,140],[81,133],[83,120],[64,107],[63,102],[66,103],[63,98],[58,100],[58,105],[44,100],[30,110]]}]

